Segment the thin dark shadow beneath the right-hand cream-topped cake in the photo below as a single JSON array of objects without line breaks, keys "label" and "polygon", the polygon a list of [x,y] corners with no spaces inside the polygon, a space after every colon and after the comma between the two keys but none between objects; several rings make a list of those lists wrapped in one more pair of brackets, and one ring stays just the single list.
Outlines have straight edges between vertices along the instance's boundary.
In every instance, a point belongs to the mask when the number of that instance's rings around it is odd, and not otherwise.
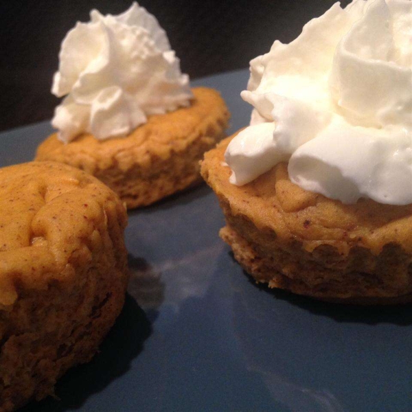
[{"label": "thin dark shadow beneath the right-hand cream-topped cake", "polygon": [[[233,253],[229,252],[231,259],[236,262]],[[331,317],[339,322],[356,322],[375,325],[377,323],[393,323],[396,325],[412,324],[412,305],[351,305],[335,304],[326,301],[320,301],[311,297],[295,295],[286,290],[271,289],[266,284],[259,284],[246,271],[244,275],[249,278],[249,282],[255,288],[264,290],[276,299],[288,301],[290,304],[299,306],[299,308],[308,310],[319,316]]]}]

